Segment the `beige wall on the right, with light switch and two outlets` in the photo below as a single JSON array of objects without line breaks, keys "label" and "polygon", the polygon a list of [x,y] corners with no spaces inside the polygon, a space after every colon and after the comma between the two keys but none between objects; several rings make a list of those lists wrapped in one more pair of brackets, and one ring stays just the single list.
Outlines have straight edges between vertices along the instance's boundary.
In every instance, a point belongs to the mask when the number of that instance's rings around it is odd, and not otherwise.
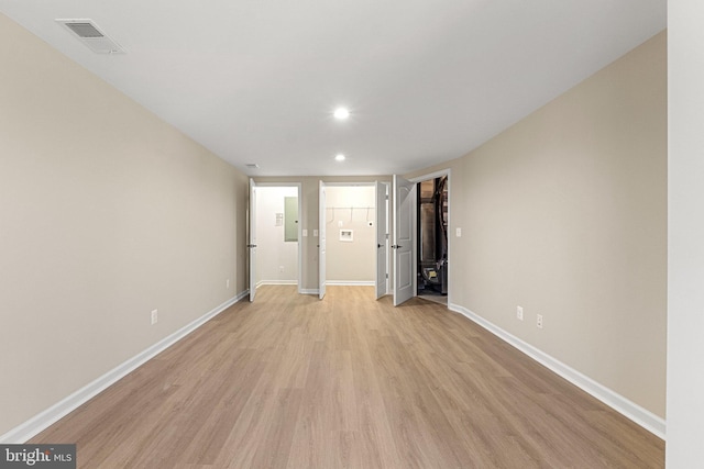
[{"label": "beige wall on the right, with light switch and two outlets", "polygon": [[666,48],[661,33],[465,157],[407,175],[451,168],[452,303],[661,417]]}]

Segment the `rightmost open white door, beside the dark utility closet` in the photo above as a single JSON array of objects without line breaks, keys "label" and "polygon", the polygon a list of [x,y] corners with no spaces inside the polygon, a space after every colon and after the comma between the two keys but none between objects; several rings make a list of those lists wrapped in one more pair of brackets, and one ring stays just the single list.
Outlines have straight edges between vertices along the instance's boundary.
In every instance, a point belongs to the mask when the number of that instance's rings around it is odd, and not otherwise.
[{"label": "rightmost open white door, beside the dark utility closet", "polygon": [[394,175],[394,306],[415,295],[416,183]]}]

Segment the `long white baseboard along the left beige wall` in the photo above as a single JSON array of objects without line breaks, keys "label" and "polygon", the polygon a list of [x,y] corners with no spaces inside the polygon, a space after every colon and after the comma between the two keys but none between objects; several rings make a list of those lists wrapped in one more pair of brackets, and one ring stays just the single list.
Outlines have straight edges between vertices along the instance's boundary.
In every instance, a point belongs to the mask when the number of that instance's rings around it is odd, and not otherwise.
[{"label": "long white baseboard along the left beige wall", "polygon": [[175,333],[163,338],[145,350],[139,353],[123,364],[118,365],[116,368],[111,369],[92,382],[86,384],[73,394],[62,399],[51,407],[33,416],[29,421],[12,428],[4,435],[0,436],[0,444],[7,445],[25,443],[33,436],[37,435],[40,432],[46,429],[52,424],[58,422],[70,412],[88,402],[90,399],[98,395],[100,392],[105,391],[110,386],[114,384],[120,379],[124,378],[131,371],[144,365],[156,355],[161,354],[191,332],[196,331],[212,317],[217,316],[238,301],[245,298],[248,294],[250,294],[249,290],[239,293],[237,297],[226,301],[219,306],[216,306],[213,310],[198,317],[196,321],[185,325],[184,327],[179,328]]}]

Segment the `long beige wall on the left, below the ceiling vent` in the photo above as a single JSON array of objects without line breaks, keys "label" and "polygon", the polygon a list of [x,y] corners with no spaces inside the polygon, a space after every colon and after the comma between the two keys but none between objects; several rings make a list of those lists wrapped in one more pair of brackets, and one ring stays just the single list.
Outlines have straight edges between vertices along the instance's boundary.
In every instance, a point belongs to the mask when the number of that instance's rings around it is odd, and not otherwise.
[{"label": "long beige wall on the left, below the ceiling vent", "polygon": [[0,44],[1,435],[244,291],[248,194],[3,15]]}]

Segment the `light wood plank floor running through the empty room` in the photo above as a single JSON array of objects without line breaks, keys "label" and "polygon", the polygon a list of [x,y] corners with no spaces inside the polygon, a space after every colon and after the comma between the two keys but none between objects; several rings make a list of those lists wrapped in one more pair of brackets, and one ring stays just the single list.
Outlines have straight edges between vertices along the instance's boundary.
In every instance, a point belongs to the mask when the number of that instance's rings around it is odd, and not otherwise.
[{"label": "light wood plank floor running through the empty room", "polygon": [[263,287],[33,439],[81,468],[661,468],[664,444],[444,306]]}]

